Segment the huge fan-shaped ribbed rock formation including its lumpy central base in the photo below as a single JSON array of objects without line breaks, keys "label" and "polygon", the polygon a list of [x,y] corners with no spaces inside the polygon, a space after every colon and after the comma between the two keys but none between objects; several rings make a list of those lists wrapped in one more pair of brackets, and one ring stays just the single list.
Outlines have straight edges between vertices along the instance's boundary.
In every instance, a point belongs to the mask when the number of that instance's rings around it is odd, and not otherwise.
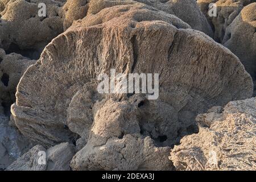
[{"label": "huge fan-shaped ribbed rock formation including its lumpy central base", "polygon": [[[170,146],[197,131],[198,113],[253,92],[237,57],[189,28],[143,4],[78,20],[24,73],[11,107],[15,125],[47,148],[76,142],[72,169],[172,169]],[[97,76],[112,68],[159,73],[158,100],[99,94]]]}]

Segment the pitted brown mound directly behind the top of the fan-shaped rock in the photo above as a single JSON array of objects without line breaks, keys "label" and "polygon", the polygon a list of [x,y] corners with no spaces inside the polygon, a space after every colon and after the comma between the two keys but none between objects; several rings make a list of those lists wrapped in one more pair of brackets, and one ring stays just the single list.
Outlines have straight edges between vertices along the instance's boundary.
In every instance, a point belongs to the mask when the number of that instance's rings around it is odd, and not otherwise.
[{"label": "pitted brown mound directly behind the top of the fan-shaped rock", "polygon": [[180,0],[180,1],[161,1],[161,0],[125,0],[125,1],[109,1],[109,0],[69,0],[63,7],[64,10],[64,28],[71,26],[74,20],[82,19],[86,15],[94,15],[102,9],[121,5],[145,5],[154,7],[157,10],[172,14],[188,23],[193,29],[204,32],[209,36],[213,36],[212,28],[210,27],[204,14],[201,13],[195,1]]}]

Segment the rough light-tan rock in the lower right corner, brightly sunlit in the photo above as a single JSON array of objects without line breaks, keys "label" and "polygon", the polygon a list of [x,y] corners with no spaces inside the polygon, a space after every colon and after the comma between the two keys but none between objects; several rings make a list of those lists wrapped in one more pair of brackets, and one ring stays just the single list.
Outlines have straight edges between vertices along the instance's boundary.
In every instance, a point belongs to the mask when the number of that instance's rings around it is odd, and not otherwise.
[{"label": "rough light-tan rock in the lower right corner, brightly sunlit", "polygon": [[256,98],[197,116],[198,134],[181,139],[170,159],[178,170],[256,169]]}]

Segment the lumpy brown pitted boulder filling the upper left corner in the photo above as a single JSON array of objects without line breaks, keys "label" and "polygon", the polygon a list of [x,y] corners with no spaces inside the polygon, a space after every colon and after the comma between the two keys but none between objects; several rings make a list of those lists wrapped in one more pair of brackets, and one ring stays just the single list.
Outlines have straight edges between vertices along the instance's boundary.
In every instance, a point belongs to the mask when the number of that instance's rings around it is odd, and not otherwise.
[{"label": "lumpy brown pitted boulder filling the upper left corner", "polygon": [[[39,16],[39,3],[46,4],[46,16]],[[63,32],[63,3],[51,0],[2,2],[0,48],[37,58],[53,38]],[[40,11],[41,12],[41,11]]]}]

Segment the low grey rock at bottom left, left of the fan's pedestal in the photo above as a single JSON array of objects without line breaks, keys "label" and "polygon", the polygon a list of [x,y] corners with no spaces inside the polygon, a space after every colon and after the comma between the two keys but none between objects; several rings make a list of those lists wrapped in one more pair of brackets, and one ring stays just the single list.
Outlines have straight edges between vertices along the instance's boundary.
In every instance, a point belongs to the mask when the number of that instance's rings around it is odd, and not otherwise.
[{"label": "low grey rock at bottom left, left of the fan's pedestal", "polygon": [[37,145],[15,160],[6,171],[69,171],[73,155],[73,144],[60,143],[48,150]]}]

